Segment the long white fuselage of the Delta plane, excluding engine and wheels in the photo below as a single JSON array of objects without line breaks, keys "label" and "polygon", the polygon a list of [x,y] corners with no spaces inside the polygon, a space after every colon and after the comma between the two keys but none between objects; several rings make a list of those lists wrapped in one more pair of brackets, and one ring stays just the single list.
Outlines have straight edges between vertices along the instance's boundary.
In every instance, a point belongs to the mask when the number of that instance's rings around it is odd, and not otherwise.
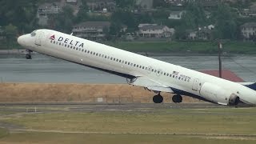
[{"label": "long white fuselage of the Delta plane, excluding engine and wheels", "polygon": [[[203,84],[209,82],[214,86],[221,87],[223,91],[238,95],[242,102],[256,104],[256,91],[236,82],[58,31],[35,30],[34,34],[26,34],[18,38],[18,43],[26,46],[29,50],[85,66],[93,66],[134,77],[150,78],[172,89],[182,90],[211,101],[211,98],[200,93]],[[217,97],[218,94],[213,94],[213,97],[215,96]],[[223,98],[218,98],[216,103],[226,105],[228,99],[223,96]]]}]

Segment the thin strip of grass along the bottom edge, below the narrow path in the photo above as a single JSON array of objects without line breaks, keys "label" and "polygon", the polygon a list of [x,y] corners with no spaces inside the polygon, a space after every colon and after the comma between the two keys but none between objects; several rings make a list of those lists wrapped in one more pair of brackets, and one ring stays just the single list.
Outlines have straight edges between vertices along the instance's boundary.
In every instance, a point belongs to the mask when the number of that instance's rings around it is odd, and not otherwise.
[{"label": "thin strip of grass along the bottom edge, below the narrow path", "polygon": [[190,144],[190,143],[248,143],[254,144],[255,140],[250,138],[222,138],[222,137],[187,137],[177,135],[165,135],[165,134],[58,134],[58,133],[37,133],[37,132],[25,132],[25,133],[12,133],[6,138],[0,138],[0,144],[2,143],[161,143],[161,144]]}]

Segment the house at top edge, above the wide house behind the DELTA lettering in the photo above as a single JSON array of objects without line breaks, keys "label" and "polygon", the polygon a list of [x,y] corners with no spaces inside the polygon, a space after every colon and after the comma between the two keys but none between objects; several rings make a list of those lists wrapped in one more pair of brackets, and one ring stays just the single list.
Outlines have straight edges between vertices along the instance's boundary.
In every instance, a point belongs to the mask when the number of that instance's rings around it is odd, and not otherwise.
[{"label": "house at top edge, above the wide house behind the DELTA lettering", "polygon": [[87,0],[86,5],[93,11],[114,11],[117,4],[114,0]]}]

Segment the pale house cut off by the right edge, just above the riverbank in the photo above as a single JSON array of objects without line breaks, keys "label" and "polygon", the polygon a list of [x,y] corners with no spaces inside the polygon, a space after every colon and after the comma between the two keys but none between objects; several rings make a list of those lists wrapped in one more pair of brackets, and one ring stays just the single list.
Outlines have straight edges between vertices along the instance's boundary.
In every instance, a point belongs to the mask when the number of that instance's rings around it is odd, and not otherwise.
[{"label": "pale house cut off by the right edge, just above the riverbank", "polygon": [[240,30],[244,39],[253,39],[256,35],[256,22],[247,22],[240,26]]}]

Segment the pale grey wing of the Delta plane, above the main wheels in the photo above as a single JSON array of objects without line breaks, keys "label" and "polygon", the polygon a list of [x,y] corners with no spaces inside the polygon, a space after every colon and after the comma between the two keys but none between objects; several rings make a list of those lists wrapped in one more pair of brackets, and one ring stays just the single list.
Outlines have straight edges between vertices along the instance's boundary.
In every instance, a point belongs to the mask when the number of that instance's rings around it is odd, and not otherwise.
[{"label": "pale grey wing of the Delta plane, above the main wheels", "polygon": [[146,77],[134,78],[131,80],[130,85],[142,86],[142,87],[147,88],[148,90],[174,93],[174,91],[171,90],[170,86],[163,85],[160,82],[156,82],[156,81],[154,81],[150,78],[146,78]]}]

